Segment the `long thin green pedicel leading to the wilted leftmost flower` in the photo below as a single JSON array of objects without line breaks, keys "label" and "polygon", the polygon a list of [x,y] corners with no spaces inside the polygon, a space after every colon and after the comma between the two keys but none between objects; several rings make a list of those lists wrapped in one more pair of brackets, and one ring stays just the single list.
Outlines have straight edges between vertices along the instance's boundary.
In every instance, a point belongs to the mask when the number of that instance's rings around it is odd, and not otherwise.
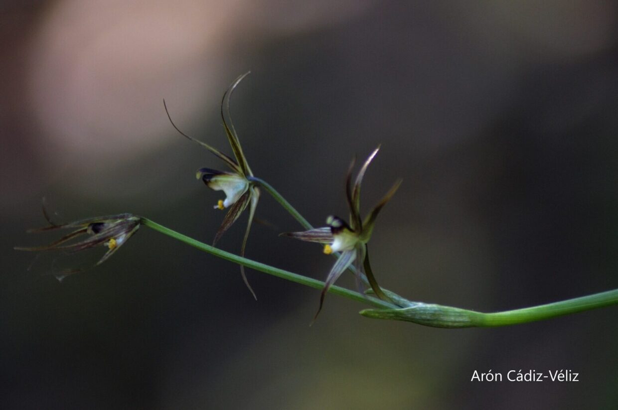
[{"label": "long thin green pedicel leading to the wilted leftmost flower", "polygon": [[[273,275],[276,277],[280,277],[286,280],[290,280],[292,282],[300,283],[301,285],[305,285],[311,288],[322,289],[324,288],[324,282],[321,280],[316,280],[313,278],[308,278],[303,275],[294,274],[292,272],[288,272],[287,270],[278,269],[273,266],[269,266],[260,262],[253,261],[252,259],[247,259],[246,257],[240,257],[233,253],[229,253],[226,251],[222,251],[221,249],[215,248],[211,245],[206,245],[203,242],[190,238],[186,235],[182,235],[182,233],[171,230],[170,228],[164,227],[163,225],[159,225],[153,220],[142,217],[142,225],[154,229],[164,235],[171,236],[172,238],[179,240],[181,242],[186,243],[187,245],[193,246],[194,248],[198,248],[201,251],[213,254],[214,256],[221,257],[226,261],[234,262],[237,264],[241,264],[251,269],[258,270],[260,272],[264,272],[265,274]],[[375,307],[379,307],[381,309],[393,309],[396,307],[392,303],[387,303],[385,301],[381,301],[379,299],[373,298],[372,296],[361,295],[360,293],[338,287],[331,286],[329,288],[329,293],[334,293],[334,295],[344,296],[345,298],[352,299],[361,303],[368,303]]]}]

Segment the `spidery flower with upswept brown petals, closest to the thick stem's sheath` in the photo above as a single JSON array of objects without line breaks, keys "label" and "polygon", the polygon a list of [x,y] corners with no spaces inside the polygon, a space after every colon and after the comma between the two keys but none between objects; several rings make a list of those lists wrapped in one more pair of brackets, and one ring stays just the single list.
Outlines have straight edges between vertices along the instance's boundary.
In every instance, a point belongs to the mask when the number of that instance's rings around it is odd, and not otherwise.
[{"label": "spidery flower with upswept brown petals, closest to the thick stem's sheath", "polygon": [[360,217],[360,185],[365,176],[367,167],[376,156],[379,151],[379,147],[376,148],[373,153],[366,159],[363,166],[358,171],[355,183],[352,186],[352,169],[354,162],[350,164],[350,168],[347,172],[347,178],[345,180],[345,195],[347,198],[348,207],[350,209],[350,222],[349,224],[345,220],[336,217],[329,216],[326,219],[328,226],[322,228],[314,228],[305,232],[287,232],[283,233],[284,236],[290,236],[302,241],[317,242],[324,245],[324,253],[331,254],[333,252],[341,252],[341,255],[337,258],[337,261],[332,266],[331,271],[326,277],[324,288],[320,295],[320,307],[315,314],[314,320],[320,314],[322,305],[324,303],[324,296],[333,283],[341,276],[341,274],[350,266],[355,267],[354,274],[357,277],[357,281],[363,280],[364,276],[370,283],[376,296],[381,299],[389,300],[384,292],[379,287],[378,283],[371,271],[371,265],[369,263],[369,254],[367,243],[371,238],[373,227],[378,217],[379,211],[386,205],[386,203],[392,198],[392,196],[399,188],[401,180],[392,186],[392,188],[384,195],[371,212],[361,219]]}]

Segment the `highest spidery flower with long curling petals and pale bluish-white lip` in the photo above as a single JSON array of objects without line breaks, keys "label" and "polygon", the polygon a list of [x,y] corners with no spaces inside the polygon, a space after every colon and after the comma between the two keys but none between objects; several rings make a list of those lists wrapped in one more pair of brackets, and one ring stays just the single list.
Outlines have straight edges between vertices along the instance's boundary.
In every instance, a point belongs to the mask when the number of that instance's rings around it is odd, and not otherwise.
[{"label": "highest spidery flower with long curling petals and pale bluish-white lip", "polygon": [[[198,169],[195,176],[198,180],[202,180],[208,188],[213,191],[223,191],[226,195],[225,199],[219,199],[217,204],[214,206],[215,209],[226,209],[226,216],[221,223],[221,227],[217,231],[214,236],[213,246],[221,239],[221,236],[236,222],[236,220],[240,217],[240,214],[249,206],[249,220],[247,224],[247,230],[245,230],[245,236],[242,240],[242,246],[240,247],[240,256],[245,256],[245,247],[247,246],[247,238],[249,236],[249,231],[251,229],[251,224],[253,222],[253,216],[255,215],[255,209],[258,206],[258,199],[260,198],[260,190],[249,178],[253,177],[253,172],[247,163],[247,158],[245,154],[242,152],[242,148],[240,147],[240,141],[236,134],[236,130],[234,129],[234,124],[232,120],[229,120],[229,125],[226,121],[226,115],[224,115],[224,109],[227,113],[227,117],[229,117],[229,104],[230,97],[232,96],[232,92],[236,86],[242,81],[243,78],[247,77],[250,72],[244,73],[240,77],[236,78],[234,82],[227,88],[227,91],[223,94],[223,98],[221,100],[221,119],[223,120],[223,127],[226,131],[227,140],[229,141],[232,147],[232,153],[234,153],[234,159],[222,153],[216,148],[213,148],[209,144],[206,144],[202,141],[196,140],[195,138],[186,135],[182,131],[179,130],[178,127],[172,121],[169,112],[166,112],[167,117],[169,117],[169,121],[172,123],[172,126],[176,128],[176,130],[188,138],[189,140],[200,144],[204,148],[208,149],[215,156],[219,157],[223,162],[227,164],[227,166],[231,169],[230,171],[219,171],[210,168],[201,168]],[[165,101],[163,101],[165,104]],[[240,265],[240,274],[242,275],[242,280],[247,285],[247,288],[251,291],[253,297],[257,299],[255,296],[255,292],[253,291],[251,285],[247,280],[247,275],[245,275],[245,267]]]}]

